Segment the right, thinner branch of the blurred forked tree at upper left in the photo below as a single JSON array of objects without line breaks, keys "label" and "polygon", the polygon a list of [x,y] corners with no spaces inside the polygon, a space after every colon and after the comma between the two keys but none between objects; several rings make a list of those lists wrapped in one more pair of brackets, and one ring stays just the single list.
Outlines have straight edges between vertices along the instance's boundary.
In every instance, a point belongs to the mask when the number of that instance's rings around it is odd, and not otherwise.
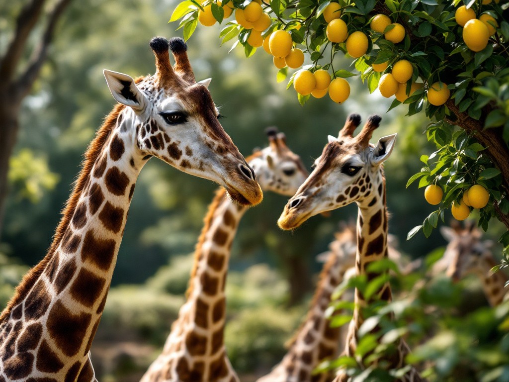
[{"label": "right, thinner branch of the blurred forked tree at upper left", "polygon": [[41,67],[46,60],[46,53],[48,51],[49,44],[53,39],[55,25],[70,2],[71,0],[60,0],[51,11],[48,17],[46,30],[44,31],[41,41],[34,49],[26,70],[17,81],[16,85],[18,86],[18,96],[24,97],[30,92],[30,89],[32,89],[32,85],[38,77]]}]

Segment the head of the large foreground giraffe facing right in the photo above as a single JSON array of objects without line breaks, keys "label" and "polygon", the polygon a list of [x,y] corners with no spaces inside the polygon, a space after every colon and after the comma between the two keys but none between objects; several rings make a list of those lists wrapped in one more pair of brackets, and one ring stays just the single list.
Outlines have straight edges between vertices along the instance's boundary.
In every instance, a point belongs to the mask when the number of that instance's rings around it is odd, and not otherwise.
[{"label": "head of the large foreground giraffe facing right", "polygon": [[127,106],[118,124],[130,131],[140,158],[156,156],[186,173],[213,180],[240,204],[259,203],[263,195],[256,175],[219,123],[207,89],[210,79],[196,83],[184,40],[155,37],[150,47],[154,75],[135,81],[104,70],[111,94]]}]

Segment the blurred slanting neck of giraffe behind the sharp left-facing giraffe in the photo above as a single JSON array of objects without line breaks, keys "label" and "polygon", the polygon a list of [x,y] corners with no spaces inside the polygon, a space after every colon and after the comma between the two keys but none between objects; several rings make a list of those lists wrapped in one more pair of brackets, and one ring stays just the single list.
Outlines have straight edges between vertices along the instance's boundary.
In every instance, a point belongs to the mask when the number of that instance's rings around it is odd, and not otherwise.
[{"label": "blurred slanting neck of giraffe behind the sharp left-facing giraffe", "polygon": [[[343,255],[343,256],[341,256]],[[323,361],[338,354],[341,337],[345,336],[342,328],[331,328],[325,311],[330,305],[331,295],[345,277],[346,254],[331,252],[320,272],[317,290],[313,296],[305,321],[290,341],[290,348],[282,361],[272,372],[258,379],[257,382],[282,382],[287,380],[312,380],[325,382],[332,374],[312,375],[313,370]],[[340,312],[335,312],[339,314]]]}]

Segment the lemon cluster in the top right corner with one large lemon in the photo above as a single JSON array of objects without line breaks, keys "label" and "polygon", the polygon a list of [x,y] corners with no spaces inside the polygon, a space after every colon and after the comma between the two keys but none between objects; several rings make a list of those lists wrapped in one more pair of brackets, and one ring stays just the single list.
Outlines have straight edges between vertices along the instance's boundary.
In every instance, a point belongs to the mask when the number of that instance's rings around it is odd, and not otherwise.
[{"label": "lemon cluster in the top right corner with one large lemon", "polygon": [[[491,0],[483,0],[483,5],[490,4]],[[498,1],[496,1],[498,3]],[[461,6],[454,15],[458,25],[463,26],[463,42],[472,51],[478,52],[486,48],[488,40],[498,28],[497,20],[488,13],[483,13],[477,19],[472,8]]]}]

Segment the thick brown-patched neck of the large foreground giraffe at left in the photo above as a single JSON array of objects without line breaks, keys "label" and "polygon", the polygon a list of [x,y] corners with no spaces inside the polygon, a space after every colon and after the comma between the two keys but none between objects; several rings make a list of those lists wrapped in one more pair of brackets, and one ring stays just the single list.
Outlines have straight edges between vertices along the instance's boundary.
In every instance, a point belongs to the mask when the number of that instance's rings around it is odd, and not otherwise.
[{"label": "thick brown-patched neck of the large foreground giraffe at left", "polygon": [[[7,339],[0,368],[7,380],[50,375],[74,380],[88,362],[144,163],[133,145],[134,129],[119,124],[120,110],[108,117],[89,149],[68,202],[72,208],[57,229],[60,240],[0,326],[0,336]],[[98,152],[91,157],[91,150]],[[15,367],[19,363],[25,365],[22,370]]]}]

